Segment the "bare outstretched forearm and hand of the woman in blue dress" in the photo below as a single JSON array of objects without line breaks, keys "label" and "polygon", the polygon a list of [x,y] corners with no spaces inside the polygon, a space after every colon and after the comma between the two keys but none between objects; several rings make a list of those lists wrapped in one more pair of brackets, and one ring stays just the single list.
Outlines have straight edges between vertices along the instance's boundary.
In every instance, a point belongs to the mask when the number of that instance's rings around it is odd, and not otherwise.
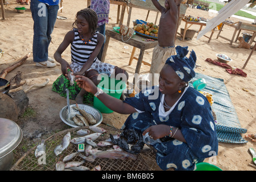
[{"label": "bare outstretched forearm and hand of the woman in blue dress", "polygon": [[[79,85],[80,88],[86,90],[86,92],[90,92],[92,94],[96,94],[98,92],[97,86],[93,84],[92,80],[90,80],[87,77],[77,75],[76,76],[76,82],[77,85]],[[107,106],[109,109],[120,113],[120,114],[131,114],[137,112],[137,110],[134,109],[133,106],[122,102],[118,98],[114,98],[112,96],[109,96],[106,93],[102,93],[98,95],[97,97],[105,106]]]}]

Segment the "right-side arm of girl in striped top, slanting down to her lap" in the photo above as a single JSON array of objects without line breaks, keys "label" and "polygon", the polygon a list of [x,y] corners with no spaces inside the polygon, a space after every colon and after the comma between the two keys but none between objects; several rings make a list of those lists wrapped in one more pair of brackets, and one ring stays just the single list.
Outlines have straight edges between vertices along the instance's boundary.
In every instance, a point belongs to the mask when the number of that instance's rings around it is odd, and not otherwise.
[{"label": "right-side arm of girl in striped top, slanting down to her lap", "polygon": [[84,73],[92,66],[93,64],[93,60],[95,59],[95,57],[98,55],[98,53],[101,50],[102,44],[104,43],[105,37],[104,35],[98,33],[98,44],[95,47],[94,51],[92,52],[92,54],[90,55],[89,59],[86,61],[86,63],[82,66],[81,70],[79,73],[77,73],[76,75],[84,75]]}]

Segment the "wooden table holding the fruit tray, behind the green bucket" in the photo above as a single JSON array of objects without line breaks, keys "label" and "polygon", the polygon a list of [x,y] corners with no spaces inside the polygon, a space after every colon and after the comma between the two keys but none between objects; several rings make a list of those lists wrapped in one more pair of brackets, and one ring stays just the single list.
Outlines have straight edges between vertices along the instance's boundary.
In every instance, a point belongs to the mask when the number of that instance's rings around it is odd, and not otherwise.
[{"label": "wooden table holding the fruit tray, behind the green bucket", "polygon": [[[115,32],[114,30],[106,30],[105,35],[106,35],[106,42],[105,42],[105,46],[104,46],[103,53],[102,53],[102,58],[101,58],[102,62],[105,62],[106,51],[109,46],[110,38],[113,38],[115,40],[119,40],[120,42],[123,42],[121,34]],[[135,69],[135,73],[138,73],[138,74],[141,69],[141,64],[143,62],[142,60],[143,60],[143,56],[144,56],[144,51],[146,49],[154,48],[155,46],[158,45],[158,40],[155,40],[154,42],[151,42],[151,41],[146,42],[146,41],[143,41],[142,39],[147,39],[147,38],[140,36],[140,35],[133,35],[133,37],[130,40],[128,40],[127,42],[123,42],[123,43],[129,44],[130,46],[133,46],[135,48],[141,49],[141,51],[139,53],[139,57],[138,57],[137,66]],[[123,40],[126,41],[127,38],[124,37]]]}]

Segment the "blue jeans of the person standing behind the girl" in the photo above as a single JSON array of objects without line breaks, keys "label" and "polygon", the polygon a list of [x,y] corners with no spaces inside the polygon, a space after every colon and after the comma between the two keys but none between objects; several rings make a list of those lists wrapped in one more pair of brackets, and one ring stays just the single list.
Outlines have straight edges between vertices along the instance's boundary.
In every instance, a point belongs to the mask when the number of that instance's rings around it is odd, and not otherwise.
[{"label": "blue jeans of the person standing behind the girl", "polygon": [[33,59],[34,62],[47,61],[59,5],[49,6],[38,0],[31,0],[30,9],[34,20]]}]

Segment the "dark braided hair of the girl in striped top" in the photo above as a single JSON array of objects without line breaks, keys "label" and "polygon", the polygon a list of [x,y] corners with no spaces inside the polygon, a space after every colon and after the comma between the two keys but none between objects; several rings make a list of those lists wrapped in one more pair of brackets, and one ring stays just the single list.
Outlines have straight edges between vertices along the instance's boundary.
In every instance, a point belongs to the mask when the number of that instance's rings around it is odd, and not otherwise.
[{"label": "dark braided hair of the girl in striped top", "polygon": [[84,17],[87,20],[87,22],[89,23],[89,26],[90,26],[90,31],[92,32],[92,34],[94,34],[94,32],[96,32],[97,24],[98,24],[98,16],[97,16],[96,12],[89,8],[80,10],[76,14],[76,18],[75,18],[75,22],[73,23],[73,27],[74,27],[74,24],[76,24],[78,15],[81,15],[82,17]]}]

